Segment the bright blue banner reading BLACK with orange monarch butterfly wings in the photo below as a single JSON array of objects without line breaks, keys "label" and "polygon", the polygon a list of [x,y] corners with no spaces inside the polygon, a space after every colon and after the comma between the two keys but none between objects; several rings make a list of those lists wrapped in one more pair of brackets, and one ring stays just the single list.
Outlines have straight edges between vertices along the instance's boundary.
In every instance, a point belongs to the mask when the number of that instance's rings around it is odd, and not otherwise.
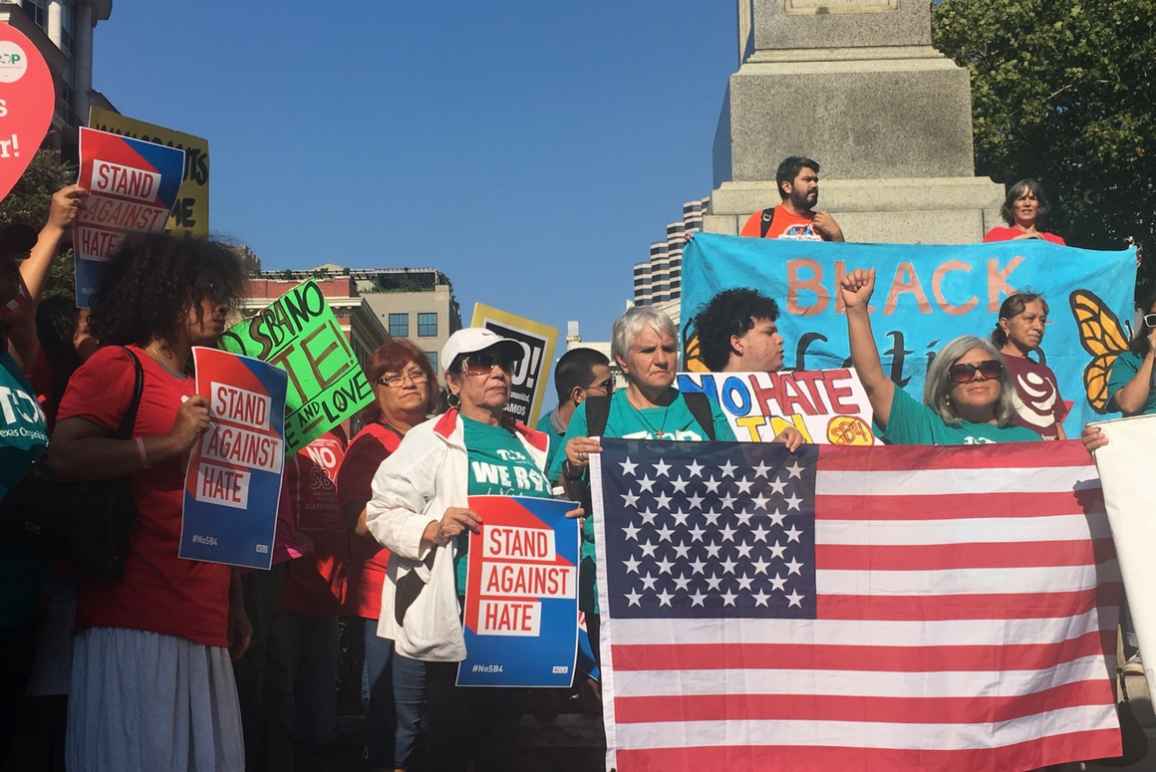
[{"label": "bright blue banner reading BLACK with orange monarch butterfly wings", "polygon": [[682,340],[696,361],[694,317],[716,294],[750,287],[778,302],[784,368],[850,364],[839,280],[876,270],[872,326],[883,368],[922,399],[935,352],[958,335],[990,337],[1000,304],[1017,291],[1051,306],[1038,355],[1070,401],[1068,437],[1110,413],[1107,372],[1131,337],[1136,254],[1080,250],[1036,239],[991,244],[835,244],[697,235],[682,258]]}]

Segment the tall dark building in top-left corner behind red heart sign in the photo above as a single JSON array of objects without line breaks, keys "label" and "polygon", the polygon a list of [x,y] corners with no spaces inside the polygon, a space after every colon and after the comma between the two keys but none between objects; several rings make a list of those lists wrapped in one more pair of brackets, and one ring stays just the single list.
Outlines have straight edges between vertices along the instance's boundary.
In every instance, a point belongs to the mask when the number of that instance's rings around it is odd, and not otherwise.
[{"label": "tall dark building in top-left corner behind red heart sign", "polygon": [[0,23],[27,35],[52,72],[55,138],[46,144],[73,143],[76,127],[88,124],[90,105],[114,110],[92,89],[92,31],[111,15],[112,0],[0,0]]}]

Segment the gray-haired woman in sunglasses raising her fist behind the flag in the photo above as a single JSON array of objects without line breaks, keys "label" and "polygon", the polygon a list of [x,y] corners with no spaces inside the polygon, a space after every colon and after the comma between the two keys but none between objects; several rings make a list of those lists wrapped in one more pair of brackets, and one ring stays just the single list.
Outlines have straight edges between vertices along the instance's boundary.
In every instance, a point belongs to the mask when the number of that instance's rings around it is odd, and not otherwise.
[{"label": "gray-haired woman in sunglasses raising her fist behind the flag", "polygon": [[895,384],[879,361],[867,304],[875,270],[852,270],[840,294],[847,309],[851,362],[859,373],[884,441],[895,445],[986,445],[1039,440],[1014,423],[1013,385],[1000,352],[990,342],[964,335],[935,355],[920,404]]}]

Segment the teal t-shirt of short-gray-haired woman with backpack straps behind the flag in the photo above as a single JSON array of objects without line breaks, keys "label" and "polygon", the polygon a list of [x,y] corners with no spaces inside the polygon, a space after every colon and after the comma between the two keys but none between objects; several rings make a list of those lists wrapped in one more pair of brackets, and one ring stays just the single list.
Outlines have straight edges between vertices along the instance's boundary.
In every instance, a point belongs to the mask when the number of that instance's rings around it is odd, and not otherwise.
[{"label": "teal t-shirt of short-gray-haired woman with backpack straps behind the flag", "polygon": [[[710,398],[707,398],[710,399]],[[734,431],[726,414],[714,400],[711,403],[711,418],[714,424],[714,439],[718,441],[735,441]],[[562,438],[562,447],[575,437],[586,437],[586,402],[583,402],[570,417],[566,433]],[[687,400],[682,394],[674,398],[670,404],[662,408],[638,409],[630,404],[625,389],[610,395],[610,410],[606,418],[606,430],[602,437],[622,439],[669,439],[680,441],[703,441],[710,436],[698,425]],[[560,452],[550,463],[550,480],[562,477],[562,463],[566,460],[565,452]],[[591,513],[592,514],[592,513]],[[581,529],[581,557],[594,561],[594,519],[587,517]],[[592,601],[583,603],[584,609],[598,613],[598,595]]]}]

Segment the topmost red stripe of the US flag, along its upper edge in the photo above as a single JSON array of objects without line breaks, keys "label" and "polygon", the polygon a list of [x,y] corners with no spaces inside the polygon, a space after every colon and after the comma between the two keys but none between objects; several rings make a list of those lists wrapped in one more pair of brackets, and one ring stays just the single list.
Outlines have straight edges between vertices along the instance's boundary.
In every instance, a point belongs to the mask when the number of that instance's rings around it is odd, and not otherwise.
[{"label": "topmost red stripe of the US flag, along its upper edge", "polygon": [[999,447],[888,445],[845,447],[823,445],[818,470],[902,472],[916,469],[1037,469],[1045,467],[1091,467],[1091,455],[1079,440],[1062,443],[1003,443]]}]

